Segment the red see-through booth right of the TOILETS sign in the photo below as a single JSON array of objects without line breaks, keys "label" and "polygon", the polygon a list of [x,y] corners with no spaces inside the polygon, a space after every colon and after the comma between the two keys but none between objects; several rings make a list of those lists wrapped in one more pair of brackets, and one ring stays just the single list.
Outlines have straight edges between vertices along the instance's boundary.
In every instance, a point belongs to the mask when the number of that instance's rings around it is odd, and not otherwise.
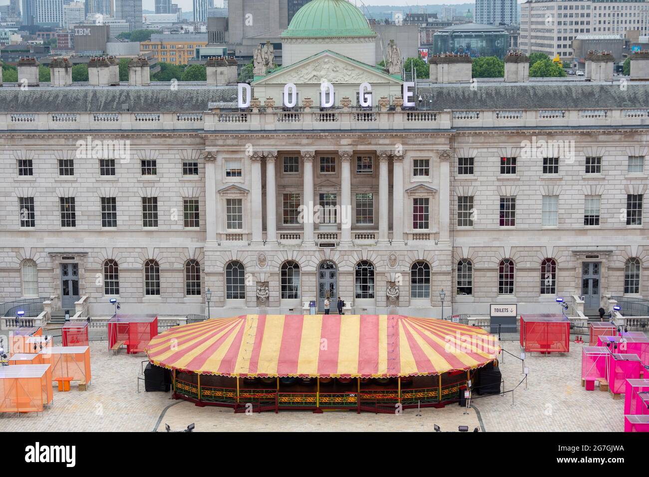
[{"label": "red see-through booth right of the TOILETS sign", "polygon": [[530,352],[569,352],[569,319],[550,313],[520,315],[520,346]]}]

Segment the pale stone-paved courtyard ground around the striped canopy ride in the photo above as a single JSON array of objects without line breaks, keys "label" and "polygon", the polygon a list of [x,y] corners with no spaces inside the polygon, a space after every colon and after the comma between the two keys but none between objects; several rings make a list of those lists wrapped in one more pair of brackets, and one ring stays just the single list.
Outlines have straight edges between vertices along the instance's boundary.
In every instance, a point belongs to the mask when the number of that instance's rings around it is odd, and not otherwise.
[{"label": "pale stone-paved courtyard ground around the striped canopy ride", "polygon": [[[145,393],[143,382],[136,392],[137,376],[144,354],[130,356],[125,351],[109,354],[106,342],[92,342],[92,384],[88,391],[54,391],[54,404],[35,414],[0,414],[0,432],[164,432],[194,422],[197,432],[209,431],[432,431],[457,430],[467,425],[486,432],[622,432],[623,400],[613,400],[607,392],[585,391],[580,383],[581,349],[570,343],[570,353],[556,356],[534,354],[526,360],[530,368],[525,383],[505,396],[473,400],[468,415],[457,404],[443,409],[405,410],[401,415],[330,411],[282,411],[234,414],[228,408],[197,408],[190,402],[172,400],[168,393]],[[520,355],[519,344],[505,342],[504,349]],[[503,362],[504,361],[504,362]],[[521,361],[506,354],[501,360],[506,389],[519,385],[524,376]]]}]

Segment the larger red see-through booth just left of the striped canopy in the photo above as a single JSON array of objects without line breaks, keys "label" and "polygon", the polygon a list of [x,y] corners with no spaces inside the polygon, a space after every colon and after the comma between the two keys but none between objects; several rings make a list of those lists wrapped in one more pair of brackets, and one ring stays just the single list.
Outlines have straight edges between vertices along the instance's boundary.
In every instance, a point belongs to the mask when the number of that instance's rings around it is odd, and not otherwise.
[{"label": "larger red see-through booth just left of the striped canopy", "polygon": [[157,315],[115,315],[108,321],[108,350],[126,345],[127,353],[142,352],[157,335]]}]

